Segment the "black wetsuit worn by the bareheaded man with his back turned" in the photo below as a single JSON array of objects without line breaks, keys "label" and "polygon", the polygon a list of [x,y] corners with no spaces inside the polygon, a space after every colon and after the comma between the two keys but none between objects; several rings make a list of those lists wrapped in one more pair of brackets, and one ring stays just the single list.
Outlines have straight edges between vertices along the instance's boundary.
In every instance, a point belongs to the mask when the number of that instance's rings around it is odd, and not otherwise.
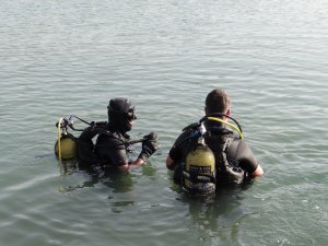
[{"label": "black wetsuit worn by the bareheaded man with his back turned", "polygon": [[[221,122],[206,121],[207,133],[204,136],[206,144],[213,151],[215,156],[216,183],[227,183],[225,174],[220,172],[224,167],[222,165],[222,145],[226,143],[226,160],[232,167],[239,167],[245,177],[253,174],[258,163],[244,140],[234,136],[231,130],[223,127]],[[195,129],[186,129],[176,139],[173,148],[169,150],[169,157],[174,161],[172,169],[175,169],[175,181],[181,175],[181,163],[185,163],[187,154],[197,145],[198,137],[195,136]]]}]

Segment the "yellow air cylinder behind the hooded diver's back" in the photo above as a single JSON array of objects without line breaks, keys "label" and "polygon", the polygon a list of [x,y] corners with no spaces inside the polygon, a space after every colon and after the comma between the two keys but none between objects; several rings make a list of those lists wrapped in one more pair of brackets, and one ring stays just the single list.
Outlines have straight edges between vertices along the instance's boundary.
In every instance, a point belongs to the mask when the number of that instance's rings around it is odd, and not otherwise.
[{"label": "yellow air cylinder behind the hooded diver's back", "polygon": [[70,160],[77,157],[77,143],[72,139],[73,137],[69,136],[61,136],[60,137],[60,148],[58,148],[58,140],[55,143],[55,153],[59,156],[60,149],[60,156],[62,160]]}]

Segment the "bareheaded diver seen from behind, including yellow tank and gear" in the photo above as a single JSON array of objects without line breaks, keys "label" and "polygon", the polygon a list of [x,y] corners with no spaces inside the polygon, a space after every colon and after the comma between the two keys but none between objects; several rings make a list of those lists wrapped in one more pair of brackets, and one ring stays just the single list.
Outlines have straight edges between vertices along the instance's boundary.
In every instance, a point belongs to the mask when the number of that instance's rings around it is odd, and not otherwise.
[{"label": "bareheaded diver seen from behind, including yellow tank and gear", "polygon": [[216,187],[261,176],[263,171],[245,143],[241,126],[231,117],[225,91],[215,89],[207,95],[204,113],[199,122],[184,128],[168,152],[166,167],[174,171],[174,181],[191,195],[209,195]]}]

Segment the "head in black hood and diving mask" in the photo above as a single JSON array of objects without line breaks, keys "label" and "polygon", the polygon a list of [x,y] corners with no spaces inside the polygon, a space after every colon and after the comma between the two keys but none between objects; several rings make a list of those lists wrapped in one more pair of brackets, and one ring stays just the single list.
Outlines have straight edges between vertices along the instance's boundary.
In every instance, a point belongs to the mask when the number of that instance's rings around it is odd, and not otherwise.
[{"label": "head in black hood and diving mask", "polygon": [[137,119],[134,107],[125,97],[117,97],[109,101],[108,121],[109,126],[120,133],[126,133],[132,129],[133,120]]}]

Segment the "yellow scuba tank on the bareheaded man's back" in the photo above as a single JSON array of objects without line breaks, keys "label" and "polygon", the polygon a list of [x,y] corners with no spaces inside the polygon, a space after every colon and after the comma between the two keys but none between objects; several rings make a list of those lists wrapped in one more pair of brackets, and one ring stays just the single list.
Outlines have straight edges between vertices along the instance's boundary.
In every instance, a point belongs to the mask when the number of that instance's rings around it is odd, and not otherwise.
[{"label": "yellow scuba tank on the bareheaded man's back", "polygon": [[183,187],[191,194],[208,195],[215,190],[215,156],[203,137],[189,152],[185,162]]}]

